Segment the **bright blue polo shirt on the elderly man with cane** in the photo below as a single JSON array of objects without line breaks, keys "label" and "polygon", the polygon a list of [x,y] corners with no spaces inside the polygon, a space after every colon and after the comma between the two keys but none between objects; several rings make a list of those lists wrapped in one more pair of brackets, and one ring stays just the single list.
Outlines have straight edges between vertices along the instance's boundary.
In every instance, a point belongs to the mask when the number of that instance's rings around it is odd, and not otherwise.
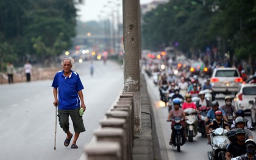
[{"label": "bright blue polo shirt on the elderly man with cane", "polygon": [[71,71],[71,75],[64,76],[63,71],[55,74],[52,87],[59,88],[59,110],[73,110],[80,107],[78,91],[84,89],[77,72]]}]

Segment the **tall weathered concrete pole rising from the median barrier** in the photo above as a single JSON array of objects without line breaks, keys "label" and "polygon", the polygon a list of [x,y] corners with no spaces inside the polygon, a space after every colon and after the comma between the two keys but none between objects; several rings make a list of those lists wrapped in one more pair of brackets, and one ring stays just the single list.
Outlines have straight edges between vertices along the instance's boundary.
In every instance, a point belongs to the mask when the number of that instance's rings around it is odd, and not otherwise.
[{"label": "tall weathered concrete pole rising from the median barrier", "polygon": [[135,133],[141,133],[138,5],[137,0],[123,0],[124,92],[133,92]]}]

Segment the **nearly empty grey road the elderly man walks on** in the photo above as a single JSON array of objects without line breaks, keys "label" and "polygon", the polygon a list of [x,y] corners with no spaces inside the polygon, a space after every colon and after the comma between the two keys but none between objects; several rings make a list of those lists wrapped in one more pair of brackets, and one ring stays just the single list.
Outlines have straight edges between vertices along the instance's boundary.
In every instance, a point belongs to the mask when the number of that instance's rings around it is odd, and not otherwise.
[{"label": "nearly empty grey road the elderly man walks on", "polygon": [[[84,85],[87,110],[83,119],[87,131],[80,134],[79,148],[65,147],[66,134],[57,122],[54,150],[55,107],[52,80],[0,85],[0,159],[79,159],[91,141],[99,120],[123,89],[123,69],[112,61],[94,61],[91,77],[89,62],[74,63]],[[74,133],[71,123],[71,132]]]}]

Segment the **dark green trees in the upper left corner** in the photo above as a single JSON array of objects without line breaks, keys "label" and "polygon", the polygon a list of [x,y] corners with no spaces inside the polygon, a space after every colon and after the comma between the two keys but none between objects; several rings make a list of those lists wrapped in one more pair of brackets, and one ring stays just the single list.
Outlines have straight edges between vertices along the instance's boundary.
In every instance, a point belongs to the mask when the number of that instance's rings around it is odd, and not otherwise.
[{"label": "dark green trees in the upper left corner", "polygon": [[[0,1],[0,52],[8,46],[1,61],[37,61],[59,55],[68,49],[76,35],[76,4],[82,0]],[[18,56],[16,56],[18,55]],[[0,63],[1,63],[0,61]]]}]

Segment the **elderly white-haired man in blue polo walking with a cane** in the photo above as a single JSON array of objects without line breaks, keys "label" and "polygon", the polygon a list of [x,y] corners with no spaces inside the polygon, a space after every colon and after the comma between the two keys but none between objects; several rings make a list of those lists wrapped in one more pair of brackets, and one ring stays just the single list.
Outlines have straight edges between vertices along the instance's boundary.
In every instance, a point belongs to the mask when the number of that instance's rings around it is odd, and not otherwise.
[{"label": "elderly white-haired man in blue polo walking with a cane", "polygon": [[[64,145],[68,147],[73,137],[73,134],[69,131],[68,119],[70,116],[73,121],[73,127],[75,132],[71,148],[78,148],[76,145],[76,141],[79,137],[79,134],[85,131],[82,116],[80,116],[79,114],[80,108],[83,108],[83,111],[85,111],[86,109],[82,92],[84,86],[82,85],[79,74],[71,70],[72,60],[70,58],[64,58],[62,60],[62,68],[63,71],[57,72],[52,82],[54,94],[53,104],[55,107],[58,106],[60,127],[66,133]],[[57,97],[58,93],[59,99]]]}]

